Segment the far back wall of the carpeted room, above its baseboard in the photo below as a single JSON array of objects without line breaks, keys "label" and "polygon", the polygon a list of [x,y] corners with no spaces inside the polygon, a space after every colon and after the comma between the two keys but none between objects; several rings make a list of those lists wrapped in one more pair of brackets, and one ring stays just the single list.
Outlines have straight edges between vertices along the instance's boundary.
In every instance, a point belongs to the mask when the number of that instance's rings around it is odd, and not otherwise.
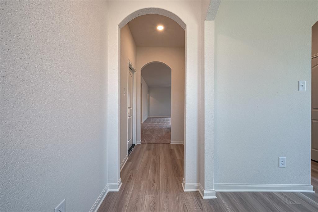
[{"label": "far back wall of the carpeted room, above its baseboard", "polygon": [[171,116],[171,87],[149,87],[149,116]]}]

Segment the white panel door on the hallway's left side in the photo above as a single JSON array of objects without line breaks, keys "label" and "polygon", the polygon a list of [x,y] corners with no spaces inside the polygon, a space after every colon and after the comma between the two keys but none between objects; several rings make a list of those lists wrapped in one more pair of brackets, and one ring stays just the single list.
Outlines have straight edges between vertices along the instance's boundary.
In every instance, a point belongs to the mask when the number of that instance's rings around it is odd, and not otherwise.
[{"label": "white panel door on the hallway's left side", "polygon": [[133,145],[133,93],[134,93],[134,73],[133,71],[128,68],[128,117],[127,117],[127,142],[128,142],[128,149]]}]

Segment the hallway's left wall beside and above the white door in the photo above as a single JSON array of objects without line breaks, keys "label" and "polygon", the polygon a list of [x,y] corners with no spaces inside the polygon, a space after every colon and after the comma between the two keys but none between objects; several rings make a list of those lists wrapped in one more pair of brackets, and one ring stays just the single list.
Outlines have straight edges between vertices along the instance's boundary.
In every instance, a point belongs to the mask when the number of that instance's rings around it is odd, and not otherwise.
[{"label": "hallway's left wall beside and above the white door", "polygon": [[[122,162],[128,154],[127,148],[127,104],[128,104],[128,60],[136,67],[136,44],[131,35],[128,24],[121,29],[121,69],[120,69],[120,162]],[[135,76],[135,75],[134,75]],[[126,88],[126,95],[124,95]],[[136,101],[136,99],[135,99]]]}]

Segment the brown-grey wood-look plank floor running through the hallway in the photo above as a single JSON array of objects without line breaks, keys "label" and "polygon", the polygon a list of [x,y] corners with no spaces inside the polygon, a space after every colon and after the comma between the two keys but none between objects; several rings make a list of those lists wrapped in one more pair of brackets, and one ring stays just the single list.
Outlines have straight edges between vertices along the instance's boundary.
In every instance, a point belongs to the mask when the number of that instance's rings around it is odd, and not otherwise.
[{"label": "brown-grey wood-look plank floor running through the hallway", "polygon": [[[202,199],[199,192],[183,192],[183,145],[136,145],[121,170],[123,185],[109,192],[99,212],[211,211],[317,212],[317,193],[217,192]],[[311,184],[318,191],[318,162],[311,161]]]}]

